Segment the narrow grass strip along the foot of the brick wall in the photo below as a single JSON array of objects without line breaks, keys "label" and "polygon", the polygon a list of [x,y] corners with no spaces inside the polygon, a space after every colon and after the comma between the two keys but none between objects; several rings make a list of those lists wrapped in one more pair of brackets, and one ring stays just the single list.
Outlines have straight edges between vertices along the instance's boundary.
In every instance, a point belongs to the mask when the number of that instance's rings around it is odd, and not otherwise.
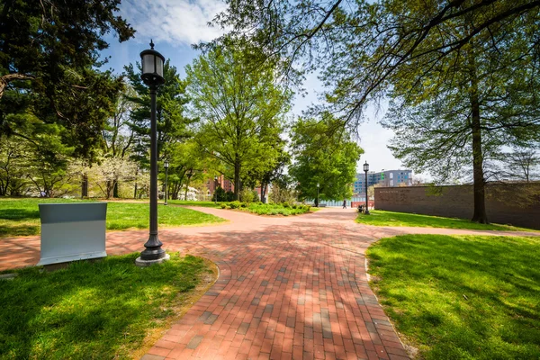
[{"label": "narrow grass strip along the foot of the brick wall", "polygon": [[370,215],[359,213],[356,217],[356,222],[374,226],[412,226],[420,228],[534,231],[531,229],[523,229],[510,225],[479,224],[478,222],[464,219],[442,218],[439,216],[382,210],[370,211]]}]

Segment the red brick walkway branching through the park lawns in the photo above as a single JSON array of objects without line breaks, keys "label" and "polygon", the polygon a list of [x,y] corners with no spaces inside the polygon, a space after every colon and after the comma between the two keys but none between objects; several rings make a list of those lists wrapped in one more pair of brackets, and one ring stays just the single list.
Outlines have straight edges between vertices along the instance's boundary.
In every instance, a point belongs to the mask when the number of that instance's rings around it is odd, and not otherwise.
[{"label": "red brick walkway branching through the park lawns", "polygon": [[[169,251],[210,258],[220,276],[143,360],[408,359],[367,283],[365,249],[404,233],[534,235],[513,231],[381,228],[355,209],[290,217],[193,208],[230,220],[161,229]],[[107,253],[142,250],[148,230],[107,233]],[[35,265],[39,237],[0,241],[0,270]]]}]

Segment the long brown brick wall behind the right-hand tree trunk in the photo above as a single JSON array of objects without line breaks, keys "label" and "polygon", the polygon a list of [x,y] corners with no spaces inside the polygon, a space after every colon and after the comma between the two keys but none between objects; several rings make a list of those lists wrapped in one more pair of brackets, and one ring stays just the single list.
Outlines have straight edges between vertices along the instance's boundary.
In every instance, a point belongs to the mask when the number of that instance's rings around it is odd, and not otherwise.
[{"label": "long brown brick wall behind the right-hand tree trunk", "polygon": [[[473,185],[375,187],[375,209],[473,218]],[[488,220],[540,229],[540,183],[486,186]]]}]

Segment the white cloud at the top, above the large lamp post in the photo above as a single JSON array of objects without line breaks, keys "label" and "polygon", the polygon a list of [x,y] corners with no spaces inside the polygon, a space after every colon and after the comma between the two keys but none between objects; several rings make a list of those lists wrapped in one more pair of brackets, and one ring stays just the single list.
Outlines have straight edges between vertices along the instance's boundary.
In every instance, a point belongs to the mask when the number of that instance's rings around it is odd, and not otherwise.
[{"label": "white cloud at the top, above the large lamp post", "polygon": [[190,45],[223,33],[208,22],[225,9],[219,0],[124,0],[120,14],[137,31],[135,40]]}]

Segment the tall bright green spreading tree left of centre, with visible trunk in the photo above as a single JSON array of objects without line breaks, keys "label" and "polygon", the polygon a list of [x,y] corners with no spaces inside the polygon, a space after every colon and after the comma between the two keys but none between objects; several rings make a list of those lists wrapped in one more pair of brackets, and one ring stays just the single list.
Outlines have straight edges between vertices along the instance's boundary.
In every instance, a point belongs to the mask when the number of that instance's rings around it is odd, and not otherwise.
[{"label": "tall bright green spreading tree left of centre, with visible trunk", "polygon": [[232,48],[209,51],[186,67],[193,114],[202,123],[195,137],[204,153],[233,169],[238,199],[247,167],[274,166],[291,93],[275,84],[274,67],[251,71],[247,54]]}]

